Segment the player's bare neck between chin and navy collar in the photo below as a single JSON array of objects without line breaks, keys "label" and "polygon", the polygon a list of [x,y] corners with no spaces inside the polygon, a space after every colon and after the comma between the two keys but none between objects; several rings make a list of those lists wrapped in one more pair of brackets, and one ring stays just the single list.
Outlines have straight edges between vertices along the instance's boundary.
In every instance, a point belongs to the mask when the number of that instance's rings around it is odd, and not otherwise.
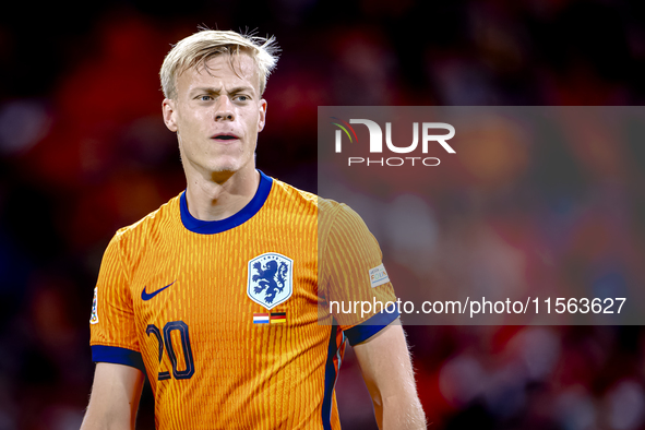
[{"label": "player's bare neck between chin and navy collar", "polygon": [[237,171],[218,182],[203,177],[189,179],[186,200],[190,214],[201,220],[220,220],[240,212],[255,195],[260,172]]}]

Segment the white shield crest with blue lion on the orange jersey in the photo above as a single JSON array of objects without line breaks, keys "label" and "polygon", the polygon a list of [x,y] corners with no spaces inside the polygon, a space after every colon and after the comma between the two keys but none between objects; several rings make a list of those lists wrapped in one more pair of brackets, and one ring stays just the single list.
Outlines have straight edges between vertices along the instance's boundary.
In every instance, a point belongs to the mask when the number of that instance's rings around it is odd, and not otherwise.
[{"label": "white shield crest with blue lion on the orange jersey", "polygon": [[271,310],[294,294],[294,260],[266,252],[249,261],[247,295]]}]

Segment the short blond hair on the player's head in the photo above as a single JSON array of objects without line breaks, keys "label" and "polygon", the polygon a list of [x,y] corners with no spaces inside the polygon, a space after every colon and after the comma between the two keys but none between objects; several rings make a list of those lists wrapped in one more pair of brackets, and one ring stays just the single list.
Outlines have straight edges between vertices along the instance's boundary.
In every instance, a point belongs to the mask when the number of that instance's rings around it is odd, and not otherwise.
[{"label": "short blond hair on the player's head", "polygon": [[162,88],[166,98],[177,97],[177,77],[186,70],[205,63],[212,57],[220,53],[238,53],[246,50],[251,55],[258,68],[260,77],[260,94],[266,88],[268,74],[275,68],[279,48],[275,37],[258,37],[236,32],[222,32],[216,29],[201,29],[188,36],[170,49],[159,76]]}]

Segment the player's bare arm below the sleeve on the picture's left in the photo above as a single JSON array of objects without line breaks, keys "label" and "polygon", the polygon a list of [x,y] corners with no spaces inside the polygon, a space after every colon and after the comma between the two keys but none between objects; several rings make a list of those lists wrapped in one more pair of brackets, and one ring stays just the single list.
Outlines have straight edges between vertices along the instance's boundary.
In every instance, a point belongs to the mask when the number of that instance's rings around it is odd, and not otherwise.
[{"label": "player's bare arm below the sleeve on the picture's left", "polygon": [[141,370],[130,366],[96,363],[89,406],[81,430],[134,429],[143,378]]}]

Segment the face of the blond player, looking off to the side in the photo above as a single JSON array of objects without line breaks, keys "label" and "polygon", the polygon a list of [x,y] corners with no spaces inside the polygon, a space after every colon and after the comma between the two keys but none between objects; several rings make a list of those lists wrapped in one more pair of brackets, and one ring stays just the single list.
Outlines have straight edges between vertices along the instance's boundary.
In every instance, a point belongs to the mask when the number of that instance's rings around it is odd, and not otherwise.
[{"label": "face of the blond player, looking off to the side", "polygon": [[[217,55],[177,79],[177,98],[165,99],[164,121],[177,132],[188,179],[225,180],[255,168],[258,133],[266,101],[260,98],[255,63],[244,51]],[[237,72],[237,73],[236,73]]]}]

